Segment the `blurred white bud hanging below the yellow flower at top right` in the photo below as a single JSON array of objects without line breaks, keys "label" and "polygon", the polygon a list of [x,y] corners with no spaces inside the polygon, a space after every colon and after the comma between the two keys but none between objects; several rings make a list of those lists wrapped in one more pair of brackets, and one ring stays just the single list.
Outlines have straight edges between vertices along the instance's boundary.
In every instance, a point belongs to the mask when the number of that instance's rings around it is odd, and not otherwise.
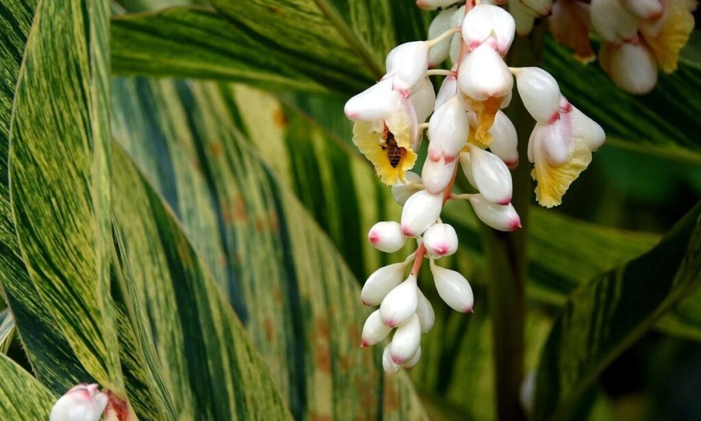
[{"label": "blurred white bud hanging below the yellow flower at top right", "polygon": [[658,67],[655,57],[643,44],[624,43],[611,52],[608,72],[618,88],[642,95],[655,88]]}]

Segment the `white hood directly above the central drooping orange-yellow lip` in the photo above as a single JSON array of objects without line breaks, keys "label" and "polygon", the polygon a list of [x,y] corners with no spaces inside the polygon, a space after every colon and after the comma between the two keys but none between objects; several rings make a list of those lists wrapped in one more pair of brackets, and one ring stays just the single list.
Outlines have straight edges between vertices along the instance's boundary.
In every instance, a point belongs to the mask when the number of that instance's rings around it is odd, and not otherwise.
[{"label": "white hood directly above the central drooping orange-yellow lip", "polygon": [[505,97],[514,80],[501,55],[483,43],[466,55],[458,71],[458,85],[468,97],[484,101]]}]

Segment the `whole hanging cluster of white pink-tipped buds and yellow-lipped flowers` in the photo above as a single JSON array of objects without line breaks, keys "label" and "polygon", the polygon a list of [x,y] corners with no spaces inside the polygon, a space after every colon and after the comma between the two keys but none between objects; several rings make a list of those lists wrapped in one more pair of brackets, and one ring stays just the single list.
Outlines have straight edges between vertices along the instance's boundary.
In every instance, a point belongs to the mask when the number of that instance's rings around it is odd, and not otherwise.
[{"label": "whole hanging cluster of white pink-tipped buds and yellow-lipped flowers", "polygon": [[[453,3],[418,1],[423,8],[444,8],[430,25],[433,38],[390,51],[386,75],[345,107],[346,116],[355,121],[353,142],[403,206],[401,221],[376,223],[369,242],[387,253],[402,249],[409,238],[417,244],[404,262],[376,270],[362,289],[365,305],[379,305],[365,323],[362,346],[379,343],[396,329],[383,357],[388,373],[418,362],[421,334],[433,326],[433,308],[416,279],[425,258],[442,300],[458,312],[472,312],[467,279],[436,264],[458,249],[456,231],[440,219],[444,203],[468,200],[477,217],[496,230],[521,227],[511,205],[510,168],[519,164],[517,132],[501,111],[510,103],[514,76],[519,95],[536,120],[529,160],[535,164],[532,174],[542,205],[559,204],[589,164],[591,151],[604,142],[601,127],[562,97],[550,74],[507,66],[503,57],[517,27],[508,11],[495,4]],[[550,11],[549,3],[538,0],[530,0],[526,7],[538,15]],[[454,63],[450,70],[429,69],[448,57]],[[437,94],[431,75],[445,76]],[[424,130],[429,144],[419,176],[409,170]],[[453,192],[458,166],[476,193]]]}]

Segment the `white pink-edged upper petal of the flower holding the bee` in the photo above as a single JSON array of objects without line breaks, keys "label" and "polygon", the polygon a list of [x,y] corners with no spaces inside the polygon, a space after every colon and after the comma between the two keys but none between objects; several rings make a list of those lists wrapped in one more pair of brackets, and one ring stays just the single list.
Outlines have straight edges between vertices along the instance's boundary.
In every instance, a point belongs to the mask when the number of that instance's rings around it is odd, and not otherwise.
[{"label": "white pink-edged upper petal of the flower holding the bee", "polygon": [[348,99],[343,112],[351,120],[381,120],[397,111],[401,103],[400,93],[392,89],[392,78],[387,78]]}]

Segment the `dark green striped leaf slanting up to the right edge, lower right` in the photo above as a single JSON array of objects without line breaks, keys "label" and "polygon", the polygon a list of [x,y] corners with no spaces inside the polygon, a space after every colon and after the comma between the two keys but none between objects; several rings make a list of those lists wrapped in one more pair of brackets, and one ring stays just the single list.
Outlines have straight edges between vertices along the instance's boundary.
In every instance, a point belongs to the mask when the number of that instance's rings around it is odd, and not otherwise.
[{"label": "dark green striped leaf slanting up to the right edge, lower right", "polygon": [[578,287],[537,375],[536,420],[560,417],[603,369],[701,283],[701,204],[651,251]]}]

